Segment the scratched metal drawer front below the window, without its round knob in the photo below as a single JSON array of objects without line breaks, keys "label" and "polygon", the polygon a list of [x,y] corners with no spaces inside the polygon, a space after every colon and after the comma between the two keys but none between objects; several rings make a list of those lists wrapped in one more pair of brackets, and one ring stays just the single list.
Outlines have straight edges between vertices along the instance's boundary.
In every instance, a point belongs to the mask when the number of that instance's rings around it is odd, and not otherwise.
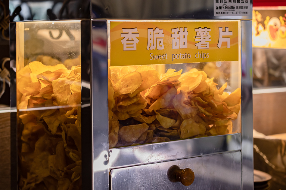
[{"label": "scratched metal drawer front below the window, without its round knob", "polygon": [[[194,182],[171,182],[167,171],[177,165],[194,171]],[[112,190],[241,190],[241,152],[187,158],[111,170]]]}]

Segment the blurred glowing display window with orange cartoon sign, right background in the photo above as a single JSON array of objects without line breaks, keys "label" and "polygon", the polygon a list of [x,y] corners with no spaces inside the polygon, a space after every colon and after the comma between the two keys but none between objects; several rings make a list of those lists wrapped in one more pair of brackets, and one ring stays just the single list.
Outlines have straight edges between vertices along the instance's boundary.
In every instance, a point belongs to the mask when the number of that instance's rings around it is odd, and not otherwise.
[{"label": "blurred glowing display window with orange cartoon sign, right background", "polygon": [[285,7],[254,7],[252,16],[253,93],[285,92]]}]

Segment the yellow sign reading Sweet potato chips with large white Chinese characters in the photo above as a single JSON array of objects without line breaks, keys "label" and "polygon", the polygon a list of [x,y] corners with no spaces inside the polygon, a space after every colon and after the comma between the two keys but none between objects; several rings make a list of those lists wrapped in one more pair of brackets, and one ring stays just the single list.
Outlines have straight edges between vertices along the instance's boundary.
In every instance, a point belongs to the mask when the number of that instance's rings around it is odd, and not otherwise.
[{"label": "yellow sign reading Sweet potato chips with large white Chinese characters", "polygon": [[110,66],[238,61],[238,20],[109,20],[108,24]]}]

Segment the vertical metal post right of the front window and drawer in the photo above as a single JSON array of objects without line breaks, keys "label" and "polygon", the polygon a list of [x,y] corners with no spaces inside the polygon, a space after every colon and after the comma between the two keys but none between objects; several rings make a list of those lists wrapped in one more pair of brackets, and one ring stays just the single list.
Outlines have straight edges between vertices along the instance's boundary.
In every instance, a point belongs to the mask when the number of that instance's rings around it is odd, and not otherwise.
[{"label": "vertical metal post right of the front window and drawer", "polygon": [[241,21],[242,189],[253,189],[252,21]]}]

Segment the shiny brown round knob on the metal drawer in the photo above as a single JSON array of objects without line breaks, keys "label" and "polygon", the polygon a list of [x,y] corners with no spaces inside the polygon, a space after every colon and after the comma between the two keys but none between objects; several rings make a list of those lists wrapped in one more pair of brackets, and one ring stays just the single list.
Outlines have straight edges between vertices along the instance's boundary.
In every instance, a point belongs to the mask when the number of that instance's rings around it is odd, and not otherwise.
[{"label": "shiny brown round knob on the metal drawer", "polygon": [[180,169],[176,165],[168,169],[167,176],[171,182],[181,182],[185,186],[191,185],[195,179],[193,170],[190,168]]}]

